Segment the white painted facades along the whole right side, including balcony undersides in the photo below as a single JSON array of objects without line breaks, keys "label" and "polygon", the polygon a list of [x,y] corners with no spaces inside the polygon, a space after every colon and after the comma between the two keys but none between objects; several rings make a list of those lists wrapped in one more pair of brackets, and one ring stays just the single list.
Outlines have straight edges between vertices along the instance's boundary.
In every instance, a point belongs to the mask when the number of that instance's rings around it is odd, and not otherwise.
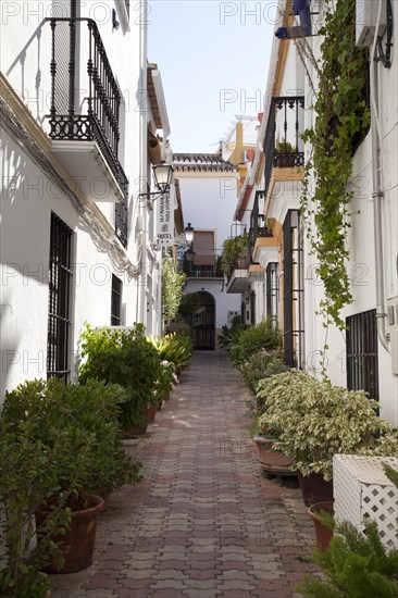
[{"label": "white painted facades along the whole right side, including balcony undersides", "polygon": [[[375,2],[376,3],[376,2]],[[322,15],[322,2],[313,3],[319,7]],[[369,4],[369,3],[368,3]],[[286,8],[285,0],[279,2],[282,12]],[[385,10],[385,3],[381,5]],[[315,11],[316,12],[316,11]],[[398,5],[393,2],[394,35],[398,30]],[[321,39],[312,37],[309,43],[312,47],[315,58],[320,55]],[[383,43],[385,42],[385,38]],[[288,45],[282,77],[278,80],[277,95],[304,96],[304,127],[311,126],[314,113],[311,111],[310,100],[313,96],[311,87],[302,64],[297,55],[293,41],[279,41],[275,38],[270,62],[270,76],[265,90],[264,120],[259,132],[258,150],[254,164],[259,164],[265,138],[266,119],[270,110],[270,98],[275,95],[276,74],[278,73],[278,61],[282,57],[282,48]],[[371,48],[372,51],[372,48]],[[378,397],[381,415],[391,424],[398,425],[398,100],[391,89],[398,88],[398,60],[397,49],[393,47],[391,67],[385,68],[382,62],[377,62],[375,74],[371,76],[371,109],[372,127],[353,155],[352,188],[355,197],[351,202],[352,227],[348,235],[350,261],[348,272],[351,278],[351,291],[353,301],[341,312],[341,317],[363,314],[377,310],[378,327],[385,332],[377,337],[377,365],[378,365]],[[281,68],[281,64],[279,64]],[[311,78],[316,80],[316,74],[312,66],[309,66]],[[378,89],[378,91],[377,91]],[[377,117],[376,117],[377,116]],[[382,266],[384,272],[383,290],[385,296],[384,304],[377,302],[376,286],[377,273],[381,272],[381,264],[375,260],[375,208],[374,194],[377,192],[374,186],[374,171],[372,166],[375,161],[375,149],[372,145],[372,129],[377,127],[376,145],[380,145],[381,157],[381,205],[380,216],[382,221]],[[300,149],[300,148],[299,148]],[[308,155],[309,148],[306,148]],[[273,171],[275,174],[275,169]],[[253,184],[254,173],[248,175],[246,184]],[[298,210],[300,207],[301,184],[300,180],[291,178],[276,182],[271,186],[266,198],[265,216],[275,219],[282,227],[288,210]],[[262,179],[263,183],[263,179]],[[253,190],[254,192],[254,190]],[[314,257],[311,256],[309,240],[303,234],[303,323],[304,334],[302,342],[303,360],[302,366],[319,375],[321,351],[325,345],[325,329],[323,322],[316,311],[322,299],[322,284],[314,275]],[[279,237],[281,239],[281,237]],[[266,267],[269,262],[281,262],[281,240],[275,247],[259,247],[256,259]],[[283,284],[283,269],[281,271],[281,284]],[[262,281],[265,288],[265,277]],[[259,285],[259,289],[261,286]],[[260,308],[261,301],[259,301]],[[378,303],[378,304],[377,304]],[[389,308],[389,311],[387,311]],[[265,315],[265,310],[263,314]],[[363,334],[366,334],[365,331]],[[327,359],[326,372],[333,384],[347,385],[347,333],[339,332],[335,326],[329,326],[327,335]]]}]

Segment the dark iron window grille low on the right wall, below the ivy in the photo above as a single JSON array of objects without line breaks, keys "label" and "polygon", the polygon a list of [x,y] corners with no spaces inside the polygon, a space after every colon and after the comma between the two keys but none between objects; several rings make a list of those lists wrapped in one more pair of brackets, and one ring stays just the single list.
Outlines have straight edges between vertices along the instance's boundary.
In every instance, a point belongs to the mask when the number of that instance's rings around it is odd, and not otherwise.
[{"label": "dark iron window grille low on the right wall, below the ivy", "polygon": [[347,387],[365,390],[378,401],[378,353],[376,310],[350,315],[347,324]]}]

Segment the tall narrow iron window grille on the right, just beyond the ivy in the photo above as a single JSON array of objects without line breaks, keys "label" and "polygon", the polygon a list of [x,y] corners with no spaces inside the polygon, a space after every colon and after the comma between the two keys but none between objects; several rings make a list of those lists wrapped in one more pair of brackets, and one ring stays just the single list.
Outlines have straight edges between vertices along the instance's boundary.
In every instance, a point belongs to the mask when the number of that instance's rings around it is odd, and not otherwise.
[{"label": "tall narrow iron window grille on the right, just beyond the ivy", "polygon": [[283,225],[283,240],[284,360],[290,367],[303,367],[303,248],[298,210],[288,210]]}]

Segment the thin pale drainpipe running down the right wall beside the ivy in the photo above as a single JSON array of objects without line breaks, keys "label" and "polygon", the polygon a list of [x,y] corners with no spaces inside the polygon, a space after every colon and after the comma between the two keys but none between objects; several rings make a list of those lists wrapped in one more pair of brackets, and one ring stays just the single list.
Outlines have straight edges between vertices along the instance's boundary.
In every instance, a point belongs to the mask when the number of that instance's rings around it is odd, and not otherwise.
[{"label": "thin pale drainpipe running down the right wall beside the ivy", "polygon": [[376,271],[376,320],[377,335],[386,351],[389,351],[389,335],[386,333],[386,310],[384,295],[384,265],[383,265],[383,223],[382,223],[382,198],[381,186],[381,153],[380,139],[381,132],[378,121],[378,73],[376,61],[376,47],[380,17],[382,12],[382,0],[378,4],[378,14],[374,41],[371,52],[371,99],[372,99],[372,179],[373,179],[373,226],[374,226],[374,250],[375,250],[375,271]]}]

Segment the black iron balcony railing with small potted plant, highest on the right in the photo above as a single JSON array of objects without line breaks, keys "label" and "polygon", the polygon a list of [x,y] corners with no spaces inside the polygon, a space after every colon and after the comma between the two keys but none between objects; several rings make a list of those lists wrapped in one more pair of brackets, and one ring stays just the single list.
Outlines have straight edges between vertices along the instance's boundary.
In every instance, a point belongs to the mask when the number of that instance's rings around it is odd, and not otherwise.
[{"label": "black iron balcony railing with small potted plant, highest on the right", "polygon": [[265,194],[273,169],[298,167],[304,164],[303,145],[300,139],[303,108],[303,96],[272,99],[264,141]]}]

